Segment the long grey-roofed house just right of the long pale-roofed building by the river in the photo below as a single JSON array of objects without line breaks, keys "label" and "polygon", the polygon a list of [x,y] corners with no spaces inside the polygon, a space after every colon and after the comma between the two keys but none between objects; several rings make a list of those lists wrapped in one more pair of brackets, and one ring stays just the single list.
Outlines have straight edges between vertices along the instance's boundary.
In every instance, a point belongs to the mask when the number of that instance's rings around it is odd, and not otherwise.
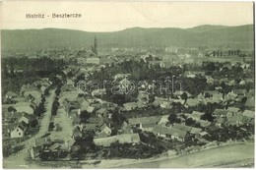
[{"label": "long grey-roofed house just right of the long pale-roofed building by the river", "polygon": [[171,138],[172,140],[177,140],[179,142],[185,142],[189,138],[189,134],[185,131],[169,127],[161,127],[160,125],[153,128],[153,133],[160,137]]}]

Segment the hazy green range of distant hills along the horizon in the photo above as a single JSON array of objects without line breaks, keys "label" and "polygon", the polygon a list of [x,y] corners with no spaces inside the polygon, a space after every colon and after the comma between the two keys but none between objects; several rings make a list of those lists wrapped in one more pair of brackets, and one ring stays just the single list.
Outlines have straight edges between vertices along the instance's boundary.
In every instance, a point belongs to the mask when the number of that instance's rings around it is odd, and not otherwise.
[{"label": "hazy green range of distant hills along the horizon", "polygon": [[88,32],[61,28],[3,29],[2,50],[89,48],[95,36],[98,47],[230,46],[253,48],[253,25],[239,27],[127,28],[113,32]]}]

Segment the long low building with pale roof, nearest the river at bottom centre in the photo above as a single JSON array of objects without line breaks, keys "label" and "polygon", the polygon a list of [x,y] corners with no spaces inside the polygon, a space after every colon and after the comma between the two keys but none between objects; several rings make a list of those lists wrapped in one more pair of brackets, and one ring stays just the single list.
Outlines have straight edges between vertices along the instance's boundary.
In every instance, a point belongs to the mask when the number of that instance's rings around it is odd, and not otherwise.
[{"label": "long low building with pale roof, nearest the river at bottom centre", "polygon": [[122,134],[107,138],[94,139],[96,145],[110,146],[113,142],[119,143],[138,143],[140,142],[139,134]]}]

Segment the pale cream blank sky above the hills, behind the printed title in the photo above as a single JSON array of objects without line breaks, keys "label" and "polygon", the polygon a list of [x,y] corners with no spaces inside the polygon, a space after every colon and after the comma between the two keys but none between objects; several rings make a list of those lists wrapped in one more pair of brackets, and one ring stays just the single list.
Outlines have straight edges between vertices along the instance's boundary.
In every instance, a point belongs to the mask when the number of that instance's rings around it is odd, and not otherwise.
[{"label": "pale cream blank sky above the hills, behind the printed title", "polygon": [[[253,24],[252,2],[85,2],[3,0],[1,28],[70,28],[116,31],[125,28],[193,28],[201,25]],[[81,14],[78,19],[53,19],[56,14]],[[27,19],[26,14],[44,14]]]}]

